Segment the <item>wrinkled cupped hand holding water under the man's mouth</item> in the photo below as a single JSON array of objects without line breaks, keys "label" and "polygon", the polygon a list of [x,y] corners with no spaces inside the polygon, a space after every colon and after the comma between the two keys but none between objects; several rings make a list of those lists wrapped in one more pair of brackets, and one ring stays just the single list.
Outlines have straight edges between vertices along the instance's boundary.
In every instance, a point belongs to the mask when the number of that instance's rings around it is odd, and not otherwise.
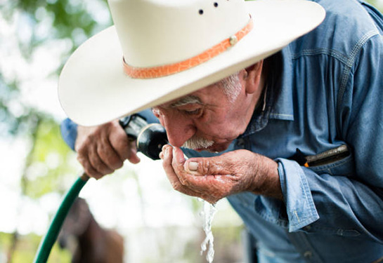
[{"label": "wrinkled cupped hand holding water under the man's mouth", "polygon": [[186,160],[181,149],[165,145],[160,157],[174,189],[209,203],[242,191],[282,198],[278,164],[251,151]]}]

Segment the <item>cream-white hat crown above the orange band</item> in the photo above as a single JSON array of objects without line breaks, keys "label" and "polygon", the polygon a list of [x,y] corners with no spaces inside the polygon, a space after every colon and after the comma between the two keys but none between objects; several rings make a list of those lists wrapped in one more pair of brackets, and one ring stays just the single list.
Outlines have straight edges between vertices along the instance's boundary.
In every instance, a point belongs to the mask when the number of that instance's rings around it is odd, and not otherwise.
[{"label": "cream-white hat crown above the orange band", "polygon": [[108,0],[122,53],[133,67],[193,58],[249,22],[243,0]]}]

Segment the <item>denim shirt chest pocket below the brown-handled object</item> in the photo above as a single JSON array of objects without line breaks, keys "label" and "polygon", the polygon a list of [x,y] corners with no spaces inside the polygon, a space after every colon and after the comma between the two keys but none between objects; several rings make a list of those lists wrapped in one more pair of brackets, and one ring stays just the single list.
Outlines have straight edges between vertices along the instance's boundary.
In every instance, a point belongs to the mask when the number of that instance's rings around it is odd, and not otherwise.
[{"label": "denim shirt chest pocket below the brown-handled object", "polygon": [[309,167],[309,169],[311,169],[318,175],[327,173],[329,175],[339,175],[345,177],[355,176],[355,162],[352,153],[350,153],[349,156],[346,156],[343,159],[334,161],[332,163],[326,163],[321,166],[311,166]]}]

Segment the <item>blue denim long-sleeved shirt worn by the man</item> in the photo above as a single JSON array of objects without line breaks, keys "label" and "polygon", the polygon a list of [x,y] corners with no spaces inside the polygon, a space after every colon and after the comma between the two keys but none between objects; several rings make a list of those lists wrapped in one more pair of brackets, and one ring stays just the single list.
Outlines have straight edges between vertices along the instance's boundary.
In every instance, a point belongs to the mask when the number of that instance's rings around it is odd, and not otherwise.
[{"label": "blue denim long-sleeved shirt worn by the man", "polygon": [[[383,257],[383,18],[356,0],[317,2],[325,21],[278,53],[263,109],[232,144],[278,162],[283,201],[228,197],[261,263]],[[62,123],[72,148],[75,130]],[[323,166],[291,159],[297,149],[310,156],[342,144],[351,154]]]}]

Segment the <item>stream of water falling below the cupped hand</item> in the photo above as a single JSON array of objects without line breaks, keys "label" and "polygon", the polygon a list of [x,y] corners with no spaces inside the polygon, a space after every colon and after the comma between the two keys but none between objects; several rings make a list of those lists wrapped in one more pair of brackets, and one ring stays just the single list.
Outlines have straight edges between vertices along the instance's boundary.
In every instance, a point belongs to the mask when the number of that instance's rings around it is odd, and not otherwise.
[{"label": "stream of water falling below the cupped hand", "polygon": [[201,255],[203,252],[207,249],[207,244],[209,244],[209,249],[207,250],[206,259],[207,262],[212,263],[214,259],[214,236],[212,232],[212,222],[213,217],[216,213],[215,205],[208,203],[207,201],[204,202],[204,209],[201,211],[200,215],[202,219],[204,220],[204,226],[203,229],[206,234],[205,240],[201,244]]}]

